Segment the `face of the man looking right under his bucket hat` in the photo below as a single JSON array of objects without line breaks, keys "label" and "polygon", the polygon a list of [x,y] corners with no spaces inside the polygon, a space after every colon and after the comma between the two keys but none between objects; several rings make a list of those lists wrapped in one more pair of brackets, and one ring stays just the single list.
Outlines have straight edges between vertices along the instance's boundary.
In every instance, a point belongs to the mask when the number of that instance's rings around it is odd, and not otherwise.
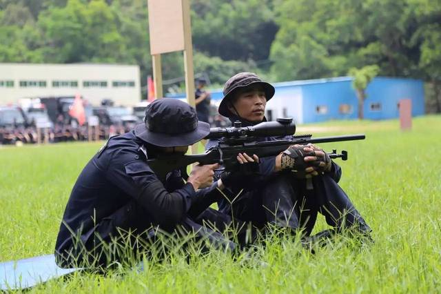
[{"label": "face of the man looking right under his bucket hat", "polygon": [[240,90],[232,100],[232,104],[234,107],[228,106],[232,113],[237,111],[237,115],[247,121],[260,122],[265,116],[267,98],[261,86],[252,86]]}]

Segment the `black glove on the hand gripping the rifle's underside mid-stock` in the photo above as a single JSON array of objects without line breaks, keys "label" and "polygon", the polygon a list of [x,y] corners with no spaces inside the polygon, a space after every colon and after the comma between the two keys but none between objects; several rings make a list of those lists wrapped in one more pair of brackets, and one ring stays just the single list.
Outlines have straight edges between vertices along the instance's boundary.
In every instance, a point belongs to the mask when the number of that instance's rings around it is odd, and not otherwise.
[{"label": "black glove on the hand gripping the rifle's underside mid-stock", "polygon": [[220,175],[220,180],[229,188],[249,188],[253,179],[258,177],[258,175],[258,162],[245,162],[244,164],[238,164],[234,170],[225,170]]}]

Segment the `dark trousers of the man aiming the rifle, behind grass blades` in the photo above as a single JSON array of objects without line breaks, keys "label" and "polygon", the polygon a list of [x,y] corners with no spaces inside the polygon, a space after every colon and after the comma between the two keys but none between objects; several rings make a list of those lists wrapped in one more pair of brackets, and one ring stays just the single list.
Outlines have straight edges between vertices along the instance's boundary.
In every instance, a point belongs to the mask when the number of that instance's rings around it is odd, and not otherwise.
[{"label": "dark trousers of the man aiming the rifle, behind grass blades", "polygon": [[163,256],[173,250],[173,246],[184,248],[190,240],[196,241],[202,251],[208,248],[234,251],[255,238],[254,228],[212,208],[201,215],[187,215],[174,228],[161,228],[152,224],[146,211],[132,201],[78,236],[80,242],[59,254],[57,263],[62,267],[108,266],[139,260],[141,254],[151,255],[154,250]]}]

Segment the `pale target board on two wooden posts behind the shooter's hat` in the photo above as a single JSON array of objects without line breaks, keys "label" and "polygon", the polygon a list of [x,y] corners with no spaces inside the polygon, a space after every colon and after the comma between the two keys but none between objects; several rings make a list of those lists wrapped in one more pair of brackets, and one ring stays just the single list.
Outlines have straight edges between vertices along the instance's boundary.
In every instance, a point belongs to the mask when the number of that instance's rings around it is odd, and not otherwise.
[{"label": "pale target board on two wooden posts behind the shooter's hat", "polygon": [[[183,51],[185,94],[188,104],[195,107],[189,0],[148,0],[148,10],[155,97],[163,97],[161,54]],[[197,153],[197,144],[192,146],[191,151]]]}]

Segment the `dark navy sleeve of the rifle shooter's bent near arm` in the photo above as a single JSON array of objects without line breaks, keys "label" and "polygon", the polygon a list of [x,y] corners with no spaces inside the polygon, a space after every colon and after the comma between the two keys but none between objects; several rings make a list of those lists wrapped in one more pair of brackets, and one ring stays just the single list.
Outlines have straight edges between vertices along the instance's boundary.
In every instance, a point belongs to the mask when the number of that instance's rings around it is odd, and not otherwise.
[{"label": "dark navy sleeve of the rifle shooter's bent near arm", "polygon": [[106,177],[143,206],[164,228],[175,226],[192,206],[195,194],[192,184],[187,183],[169,193],[135,150],[114,153]]}]

